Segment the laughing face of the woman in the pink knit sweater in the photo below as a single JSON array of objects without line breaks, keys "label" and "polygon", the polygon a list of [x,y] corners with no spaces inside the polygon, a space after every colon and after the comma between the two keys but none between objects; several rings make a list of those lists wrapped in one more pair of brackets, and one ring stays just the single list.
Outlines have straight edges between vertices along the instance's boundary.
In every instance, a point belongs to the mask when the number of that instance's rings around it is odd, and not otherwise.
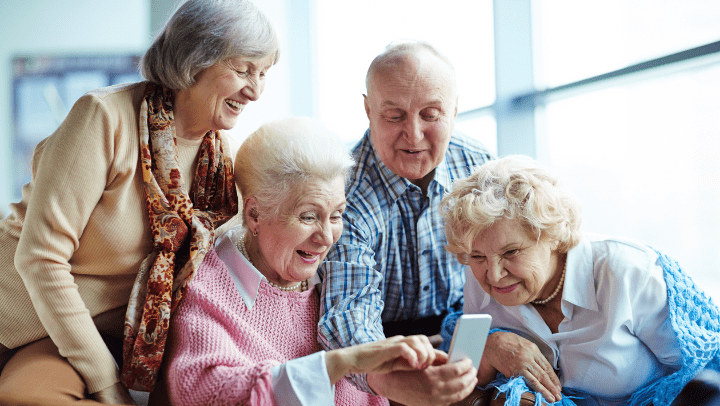
[{"label": "laughing face of the woman in the pink knit sweater", "polygon": [[[280,286],[293,285],[315,275],[330,247],[342,233],[345,180],[313,179],[298,185],[276,218],[249,224],[257,231],[251,257],[258,270]],[[255,227],[255,228],[253,228]],[[253,255],[254,254],[254,255]]]}]

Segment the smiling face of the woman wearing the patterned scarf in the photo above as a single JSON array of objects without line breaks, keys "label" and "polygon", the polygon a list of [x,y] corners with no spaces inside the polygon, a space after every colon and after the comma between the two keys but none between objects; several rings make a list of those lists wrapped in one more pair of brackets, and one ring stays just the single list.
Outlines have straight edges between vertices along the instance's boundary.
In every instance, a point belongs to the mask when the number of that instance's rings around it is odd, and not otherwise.
[{"label": "smiling face of the woman wearing the patterned scarf", "polygon": [[189,89],[177,91],[176,121],[182,136],[199,138],[208,131],[235,127],[245,105],[260,98],[273,60],[273,55],[232,58],[198,73]]}]

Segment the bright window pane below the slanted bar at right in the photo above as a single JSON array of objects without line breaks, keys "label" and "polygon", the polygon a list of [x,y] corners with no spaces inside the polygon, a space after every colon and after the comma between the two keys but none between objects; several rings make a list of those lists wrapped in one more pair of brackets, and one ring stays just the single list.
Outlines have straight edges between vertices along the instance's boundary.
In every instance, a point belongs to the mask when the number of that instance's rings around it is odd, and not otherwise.
[{"label": "bright window pane below the slanted bar at right", "polygon": [[547,156],[584,230],[644,241],[720,300],[720,64],[551,103]]}]

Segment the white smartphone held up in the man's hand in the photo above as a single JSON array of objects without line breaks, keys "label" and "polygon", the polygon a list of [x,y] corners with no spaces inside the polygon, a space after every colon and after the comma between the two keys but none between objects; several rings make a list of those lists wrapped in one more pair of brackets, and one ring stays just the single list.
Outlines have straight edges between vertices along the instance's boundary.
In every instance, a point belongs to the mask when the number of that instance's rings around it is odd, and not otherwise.
[{"label": "white smartphone held up in the man's hand", "polygon": [[492,317],[489,314],[463,314],[455,324],[453,339],[448,351],[448,362],[470,358],[473,366],[480,367],[480,359],[485,350],[485,341],[490,331]]}]

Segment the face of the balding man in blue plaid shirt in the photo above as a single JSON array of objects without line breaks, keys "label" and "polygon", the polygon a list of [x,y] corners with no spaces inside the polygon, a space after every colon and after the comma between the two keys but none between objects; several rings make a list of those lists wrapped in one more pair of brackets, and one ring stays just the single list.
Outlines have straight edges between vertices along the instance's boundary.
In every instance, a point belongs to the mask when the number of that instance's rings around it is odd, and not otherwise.
[{"label": "face of the balding man in blue plaid shirt", "polygon": [[442,162],[457,115],[450,68],[428,53],[378,67],[365,112],[375,151],[395,174],[425,189]]}]

